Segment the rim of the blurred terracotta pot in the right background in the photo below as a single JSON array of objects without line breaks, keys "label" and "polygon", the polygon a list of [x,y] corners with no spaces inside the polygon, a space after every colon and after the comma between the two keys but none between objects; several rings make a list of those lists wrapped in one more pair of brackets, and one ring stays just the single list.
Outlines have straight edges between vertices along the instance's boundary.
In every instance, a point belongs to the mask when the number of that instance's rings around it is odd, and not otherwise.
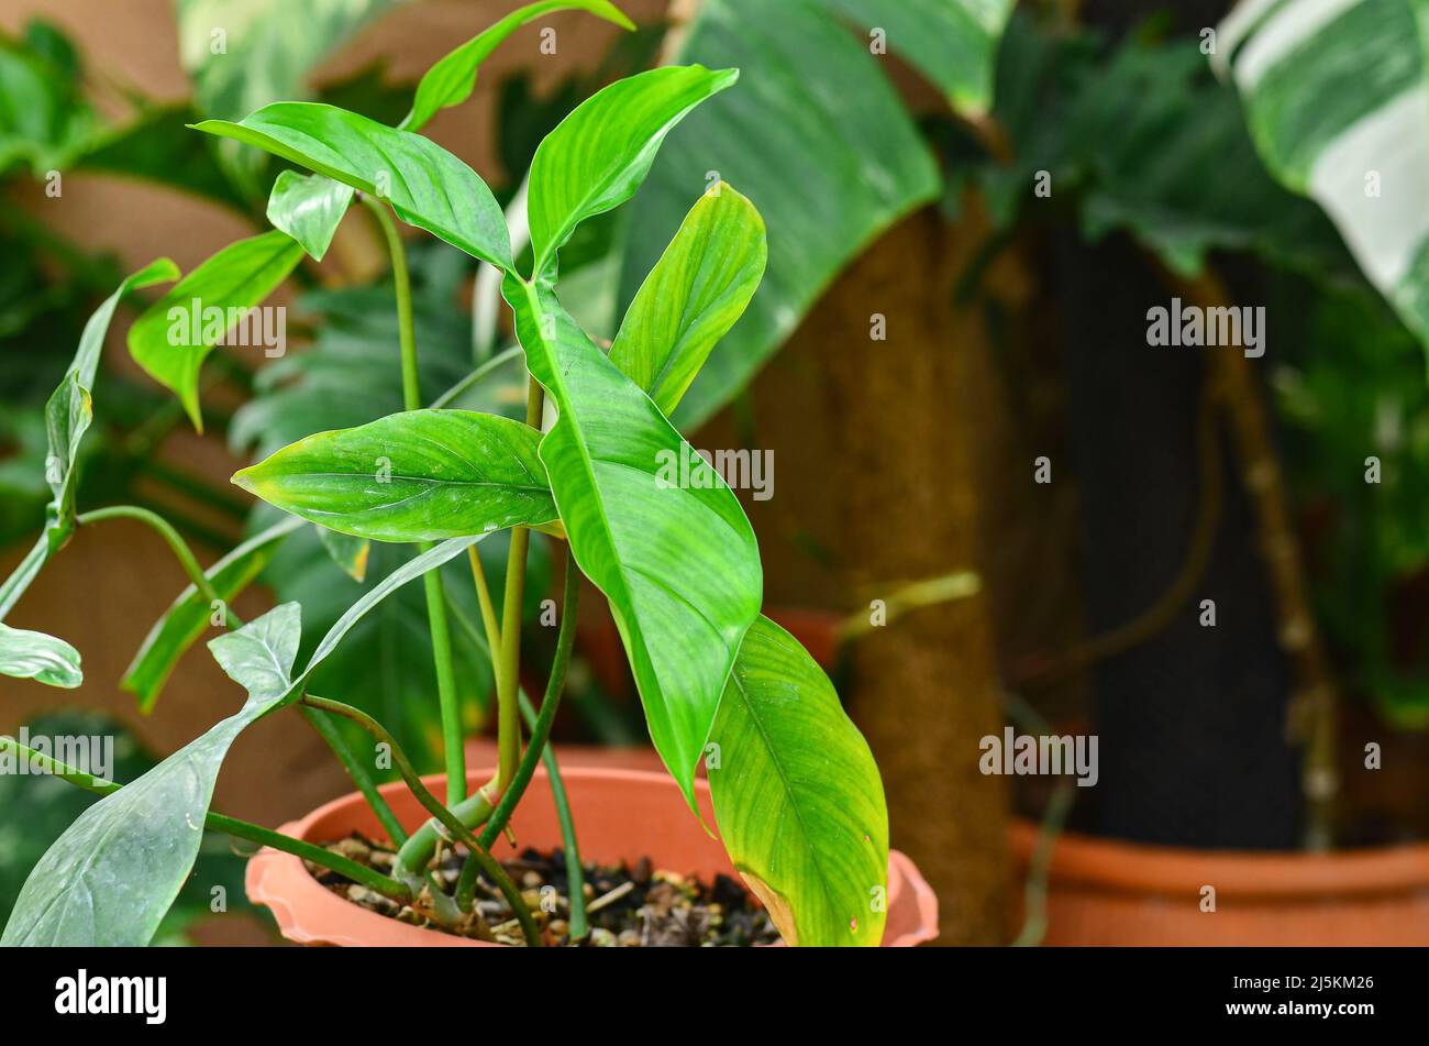
[{"label": "rim of the blurred terracotta pot in the right background", "polygon": [[[1026,866],[1040,826],[1015,817],[1007,835],[1013,855]],[[1429,843],[1338,853],[1268,853],[1129,843],[1063,832],[1052,852],[1049,879],[1152,895],[1198,892],[1213,883],[1222,892],[1282,900],[1415,893],[1429,889]]]}]

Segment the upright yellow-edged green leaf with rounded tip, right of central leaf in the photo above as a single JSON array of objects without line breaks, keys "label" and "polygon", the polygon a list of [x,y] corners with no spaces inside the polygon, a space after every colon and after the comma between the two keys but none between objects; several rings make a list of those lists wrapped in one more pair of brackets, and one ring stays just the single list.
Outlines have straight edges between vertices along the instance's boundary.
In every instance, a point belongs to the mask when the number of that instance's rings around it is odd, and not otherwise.
[{"label": "upright yellow-edged green leaf with rounded tip, right of central leaf", "polygon": [[726,184],[690,210],[634,296],[610,362],[669,416],[745,313],[769,260],[765,220]]}]

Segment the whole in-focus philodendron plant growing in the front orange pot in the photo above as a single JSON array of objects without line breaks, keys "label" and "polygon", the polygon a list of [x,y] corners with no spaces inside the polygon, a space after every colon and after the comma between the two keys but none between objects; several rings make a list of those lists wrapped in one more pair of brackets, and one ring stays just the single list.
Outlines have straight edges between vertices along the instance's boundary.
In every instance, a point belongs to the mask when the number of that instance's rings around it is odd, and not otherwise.
[{"label": "whole in-focus philodendron plant growing in the front orange pot", "polygon": [[[696,767],[709,770],[719,837],[789,943],[877,945],[887,882],[887,815],[867,744],[845,716],[823,672],[783,629],[760,616],[755,533],[732,490],[694,454],[669,416],[719,339],[740,317],[765,269],[766,233],[749,200],[727,184],[692,186],[689,217],[650,272],[609,350],[562,307],[559,256],[576,229],[627,201],[666,134],[696,106],[733,87],[737,70],[664,67],[617,81],[576,109],[540,146],[529,174],[526,221],[506,216],[486,183],[420,133],[440,109],[463,101],[477,67],[519,26],[582,9],[629,27],[604,0],[547,0],[524,7],[442,59],[422,79],[409,116],[389,127],[332,106],[277,103],[236,123],[196,130],[272,153],[299,169],[279,176],[269,203],[276,227],[219,251],[180,279],[169,260],[129,277],[91,319],[74,364],[49,403],[53,502],[44,533],[0,586],[0,617],[77,526],[127,517],[159,530],[193,584],[160,620],[124,679],[144,707],[173,662],[211,624],[223,670],[247,692],[243,706],[206,734],[123,787],[0,740],[0,759],[27,759],[100,793],[36,866],[6,926],[6,945],[143,945],[190,875],[204,829],[302,856],[399,902],[424,897],[439,923],[473,903],[479,876],[502,892],[529,945],[546,943],[510,876],[492,856],[539,762],[559,766],[547,740],[574,639],[584,574],[604,594],[639,686],[650,737],[690,805]],[[757,149],[757,143],[747,143]],[[306,251],[322,259],[349,206],[372,211],[392,254],[400,339],[393,380],[406,410],[300,440],[234,476],[287,514],[203,570],[161,517],[131,506],[77,513],[74,466],[91,417],[90,394],[106,329],[120,299],[177,280],[129,332],[134,359],[201,423],[199,370],[227,322],[183,323],[211,309],[231,320],[257,306]],[[529,370],[524,423],[424,407],[417,386],[412,294],[393,219],[493,266]],[[519,216],[516,216],[519,217]],[[529,254],[524,240],[529,236]],[[529,263],[524,259],[529,257]],[[201,306],[191,309],[191,306]],[[231,313],[229,310],[239,310]],[[477,369],[463,387],[480,382]],[[437,403],[446,403],[442,397]],[[669,462],[693,462],[672,482]],[[687,477],[687,482],[686,482]],[[316,526],[339,564],[360,573],[369,542],[416,546],[414,554],[347,610],[297,664],[302,607],[282,604],[243,624],[229,602],[287,534]],[[510,529],[500,609],[476,554]],[[530,532],[566,546],[564,606],[556,657],[539,710],[520,690],[522,604]],[[496,679],[499,764],[467,793],[462,720],[442,564],[466,556]],[[334,567],[336,569],[336,567]],[[389,732],[367,713],[307,689],[313,670],[377,603],[422,580],[436,657],[446,796],[433,796]],[[90,594],[87,593],[86,597]],[[53,686],[80,682],[66,642],[0,624],[0,672]],[[339,694],[340,697],[340,694]],[[397,850],[390,875],[304,840],[210,809],[229,746],[256,720],[296,709],[334,747]],[[430,812],[410,835],[379,793],[370,752],[333,717],[367,730],[390,753]],[[523,722],[526,730],[523,730]],[[580,882],[569,810],[566,857]],[[630,830],[639,833],[640,826]],[[640,840],[633,840],[640,842]],[[467,860],[452,892],[430,872],[443,846]],[[652,853],[659,859],[659,853]],[[587,929],[580,889],[570,890],[569,936]]]}]

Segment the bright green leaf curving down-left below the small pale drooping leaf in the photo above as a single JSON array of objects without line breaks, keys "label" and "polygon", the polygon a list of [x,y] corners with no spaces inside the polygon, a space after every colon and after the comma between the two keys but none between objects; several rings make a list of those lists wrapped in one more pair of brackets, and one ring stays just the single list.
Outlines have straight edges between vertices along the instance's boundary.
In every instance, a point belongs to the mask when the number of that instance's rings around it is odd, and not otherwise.
[{"label": "bright green leaf curving down-left below the small pale drooping leaf", "polygon": [[[230,243],[183,277],[129,329],[129,353],[159,384],[179,396],[203,432],[199,370],[243,310],[272,294],[303,257],[287,233]],[[259,347],[256,352],[263,352]]]}]

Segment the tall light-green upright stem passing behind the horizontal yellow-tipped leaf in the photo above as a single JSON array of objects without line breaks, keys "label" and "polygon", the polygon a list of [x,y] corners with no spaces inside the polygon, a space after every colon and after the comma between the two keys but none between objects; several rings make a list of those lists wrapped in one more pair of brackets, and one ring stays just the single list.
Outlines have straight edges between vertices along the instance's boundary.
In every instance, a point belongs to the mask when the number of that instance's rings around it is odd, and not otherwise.
[{"label": "tall light-green upright stem passing behind the horizontal yellow-tipped leaf", "polygon": [[[422,386],[417,380],[417,336],[412,319],[412,279],[407,273],[407,256],[397,234],[397,224],[387,207],[366,193],[363,204],[377,217],[387,251],[392,254],[392,282],[397,294],[397,339],[402,349],[402,402],[407,410],[420,410]],[[433,546],[423,542],[419,552]],[[430,570],[422,577],[427,597],[427,626],[432,633],[432,657],[437,673],[437,703],[442,709],[442,749],[446,756],[447,806],[456,806],[466,799],[466,752],[462,746],[462,706],[456,693],[456,667],[452,660],[452,629],[446,616],[446,593],[442,587],[442,572]]]}]

